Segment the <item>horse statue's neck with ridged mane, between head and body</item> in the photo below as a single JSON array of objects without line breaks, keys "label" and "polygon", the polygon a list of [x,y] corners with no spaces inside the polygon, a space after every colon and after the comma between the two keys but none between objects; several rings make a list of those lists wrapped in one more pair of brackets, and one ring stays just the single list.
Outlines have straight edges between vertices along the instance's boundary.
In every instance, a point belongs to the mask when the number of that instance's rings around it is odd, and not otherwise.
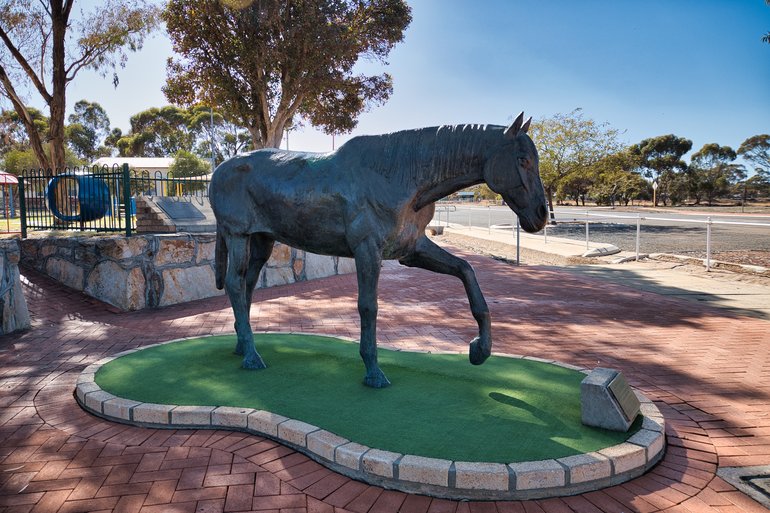
[{"label": "horse statue's neck with ridged mane, between head and body", "polygon": [[344,158],[402,185],[440,183],[470,171],[504,129],[496,125],[444,125],[385,135],[358,136],[340,146]]}]

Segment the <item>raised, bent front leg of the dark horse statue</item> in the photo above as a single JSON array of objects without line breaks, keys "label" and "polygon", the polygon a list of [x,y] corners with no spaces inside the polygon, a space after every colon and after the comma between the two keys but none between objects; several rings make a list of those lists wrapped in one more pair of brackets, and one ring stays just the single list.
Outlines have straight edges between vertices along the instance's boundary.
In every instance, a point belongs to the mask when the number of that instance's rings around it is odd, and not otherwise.
[{"label": "raised, bent front leg of the dark horse statue", "polygon": [[476,281],[473,267],[424,236],[417,240],[414,251],[399,262],[409,267],[420,267],[436,273],[449,274],[462,280],[471,305],[471,313],[479,325],[479,336],[471,341],[468,356],[473,365],[484,363],[492,353],[492,324],[489,307]]}]

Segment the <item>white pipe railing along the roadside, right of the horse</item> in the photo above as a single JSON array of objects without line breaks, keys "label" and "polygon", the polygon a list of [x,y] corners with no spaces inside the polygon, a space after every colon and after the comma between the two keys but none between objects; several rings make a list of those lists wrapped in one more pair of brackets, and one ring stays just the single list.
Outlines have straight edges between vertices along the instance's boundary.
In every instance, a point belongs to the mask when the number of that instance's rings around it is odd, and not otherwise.
[{"label": "white pipe railing along the roadside, right of the horse", "polygon": [[[611,207],[608,207],[611,208]],[[472,214],[473,211],[483,211],[486,210],[488,212],[487,217],[487,228],[489,229],[490,233],[492,231],[492,209],[491,207],[471,207],[471,206],[463,206],[460,205],[459,207],[457,205],[437,205],[436,206],[436,216],[435,219],[440,225],[442,223],[442,214],[444,215],[444,223],[446,225],[449,224],[449,213],[450,212],[457,212],[457,211],[468,211],[468,227],[472,226]],[[516,264],[519,263],[519,244],[520,244],[520,226],[519,226],[519,219],[518,216],[516,216],[515,213],[511,212],[513,215],[513,218],[515,219],[515,231],[516,231]],[[674,222],[674,223],[691,223],[691,224],[705,224],[706,225],[706,258],[705,258],[705,266],[706,271],[711,270],[711,227],[713,225],[736,225],[736,226],[757,226],[762,228],[767,228],[768,233],[770,234],[770,223],[758,223],[758,222],[748,222],[748,221],[723,221],[723,220],[715,220],[712,219],[711,216],[706,215],[705,219],[687,219],[687,218],[672,218],[672,217],[659,217],[659,216],[649,216],[649,215],[641,215],[640,213],[637,213],[634,217],[633,215],[616,215],[616,214],[596,214],[591,213],[590,211],[585,211],[583,213],[582,218],[580,217],[573,217],[572,219],[564,220],[562,219],[561,222],[581,222],[585,223],[585,242],[586,242],[586,249],[589,248],[589,237],[590,237],[590,225],[591,225],[591,219],[590,218],[602,218],[602,219],[622,219],[625,222],[620,224],[633,224],[636,223],[636,260],[639,260],[640,258],[640,252],[639,252],[639,246],[640,246],[640,239],[641,239],[641,231],[642,231],[642,222],[643,221],[663,221],[663,222]],[[596,222],[596,221],[593,221]],[[547,244],[548,243],[548,225],[545,226],[543,229],[543,237],[544,241]]]}]

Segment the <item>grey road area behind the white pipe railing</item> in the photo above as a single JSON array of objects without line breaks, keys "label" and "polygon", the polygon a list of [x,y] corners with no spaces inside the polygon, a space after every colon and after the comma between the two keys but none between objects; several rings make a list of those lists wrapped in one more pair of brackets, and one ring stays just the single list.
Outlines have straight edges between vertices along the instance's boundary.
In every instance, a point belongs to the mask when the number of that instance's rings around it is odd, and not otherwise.
[{"label": "grey road area behind the white pipe railing", "polygon": [[[488,227],[513,224],[514,214],[506,207],[464,207],[439,212],[438,220]],[[439,210],[442,210],[439,208]],[[556,226],[547,228],[554,237],[585,240],[586,212],[589,213],[589,239],[613,244],[624,251],[636,248],[637,213],[607,209],[557,208]],[[706,253],[706,221],[710,217],[712,254],[727,251],[770,251],[770,217],[761,215],[709,215],[643,212],[640,220],[639,250],[643,253],[675,253],[703,257]],[[752,224],[719,224],[752,223]]]}]

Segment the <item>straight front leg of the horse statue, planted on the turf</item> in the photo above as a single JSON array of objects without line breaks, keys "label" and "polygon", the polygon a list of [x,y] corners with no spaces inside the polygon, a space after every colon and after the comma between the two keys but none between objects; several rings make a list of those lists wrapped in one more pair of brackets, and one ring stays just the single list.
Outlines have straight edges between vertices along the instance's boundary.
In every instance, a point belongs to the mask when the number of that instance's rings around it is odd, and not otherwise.
[{"label": "straight front leg of the horse statue, planted on the turf", "polygon": [[371,241],[365,241],[355,251],[358,276],[358,314],[361,317],[359,351],[366,366],[364,384],[384,388],[390,381],[377,364],[377,286],[380,281],[382,255]]}]

